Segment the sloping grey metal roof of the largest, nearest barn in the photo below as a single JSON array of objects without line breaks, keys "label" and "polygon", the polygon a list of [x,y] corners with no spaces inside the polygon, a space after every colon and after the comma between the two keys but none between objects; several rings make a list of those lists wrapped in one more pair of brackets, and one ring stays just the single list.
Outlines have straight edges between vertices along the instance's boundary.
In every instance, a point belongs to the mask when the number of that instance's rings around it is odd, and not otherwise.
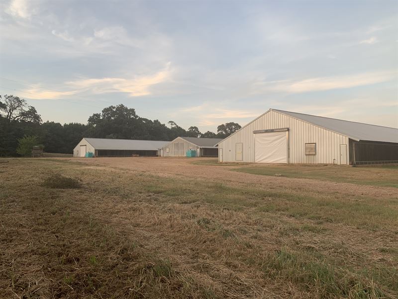
[{"label": "sloping grey metal roof of the largest, nearest barn", "polygon": [[345,135],[356,141],[363,140],[398,143],[398,129],[396,128],[368,125],[277,109],[270,110],[294,117],[329,131]]}]

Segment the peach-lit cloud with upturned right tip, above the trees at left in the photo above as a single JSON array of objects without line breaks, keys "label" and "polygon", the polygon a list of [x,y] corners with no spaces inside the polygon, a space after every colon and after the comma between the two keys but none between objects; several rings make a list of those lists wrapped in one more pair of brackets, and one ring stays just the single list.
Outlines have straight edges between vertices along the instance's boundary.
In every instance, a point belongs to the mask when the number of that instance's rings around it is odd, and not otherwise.
[{"label": "peach-lit cloud with upturned right tip, above the trees at left", "polygon": [[152,94],[150,87],[163,83],[170,79],[170,63],[165,70],[159,71],[151,76],[124,78],[91,78],[67,82],[69,86],[79,90],[91,90],[95,94],[123,92],[131,97],[146,96]]}]

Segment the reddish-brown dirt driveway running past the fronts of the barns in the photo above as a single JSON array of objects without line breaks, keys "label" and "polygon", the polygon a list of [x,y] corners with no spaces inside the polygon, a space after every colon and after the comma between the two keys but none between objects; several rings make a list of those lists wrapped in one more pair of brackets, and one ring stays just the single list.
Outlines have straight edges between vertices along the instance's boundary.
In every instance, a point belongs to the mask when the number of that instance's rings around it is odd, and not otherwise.
[{"label": "reddish-brown dirt driveway running past the fronts of the barns", "polygon": [[[185,157],[101,157],[101,158],[74,158],[72,161],[84,162],[93,167],[112,168],[116,171],[145,172],[157,176],[189,177],[193,179],[214,180],[228,185],[252,184],[257,188],[286,189],[290,191],[306,191],[310,193],[339,193],[348,196],[386,196],[398,197],[397,188],[358,185],[306,178],[289,178],[280,176],[256,175],[233,171],[241,165],[200,165],[196,161],[211,161],[209,158]],[[214,159],[212,159],[214,160]],[[249,164],[256,167],[255,164]],[[336,166],[314,166],[336,167]],[[347,167],[347,166],[339,166]]]}]

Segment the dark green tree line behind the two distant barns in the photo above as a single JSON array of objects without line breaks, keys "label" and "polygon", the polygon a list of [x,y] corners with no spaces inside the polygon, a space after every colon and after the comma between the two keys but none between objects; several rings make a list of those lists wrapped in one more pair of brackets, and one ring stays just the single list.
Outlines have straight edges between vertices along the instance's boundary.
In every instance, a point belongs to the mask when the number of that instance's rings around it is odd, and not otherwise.
[{"label": "dark green tree line behind the two distant barns", "polygon": [[[168,126],[159,120],[139,117],[135,109],[122,104],[109,106],[89,117],[87,124],[42,122],[41,116],[27,101],[13,95],[0,95],[0,155],[24,155],[31,146],[46,152],[72,153],[83,137],[171,141],[179,136],[225,138],[241,126],[221,124],[217,133],[201,133],[196,126],[185,130],[174,121]],[[30,148],[30,149],[29,149]]]}]

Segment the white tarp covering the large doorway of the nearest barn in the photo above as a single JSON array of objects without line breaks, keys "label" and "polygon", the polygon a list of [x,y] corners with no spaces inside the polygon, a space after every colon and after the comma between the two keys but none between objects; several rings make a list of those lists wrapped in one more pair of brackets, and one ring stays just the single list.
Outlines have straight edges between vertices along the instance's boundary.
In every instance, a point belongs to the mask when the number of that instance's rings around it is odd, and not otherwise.
[{"label": "white tarp covering the large doorway of the nearest barn", "polygon": [[287,132],[257,133],[255,139],[256,163],[287,163]]}]

